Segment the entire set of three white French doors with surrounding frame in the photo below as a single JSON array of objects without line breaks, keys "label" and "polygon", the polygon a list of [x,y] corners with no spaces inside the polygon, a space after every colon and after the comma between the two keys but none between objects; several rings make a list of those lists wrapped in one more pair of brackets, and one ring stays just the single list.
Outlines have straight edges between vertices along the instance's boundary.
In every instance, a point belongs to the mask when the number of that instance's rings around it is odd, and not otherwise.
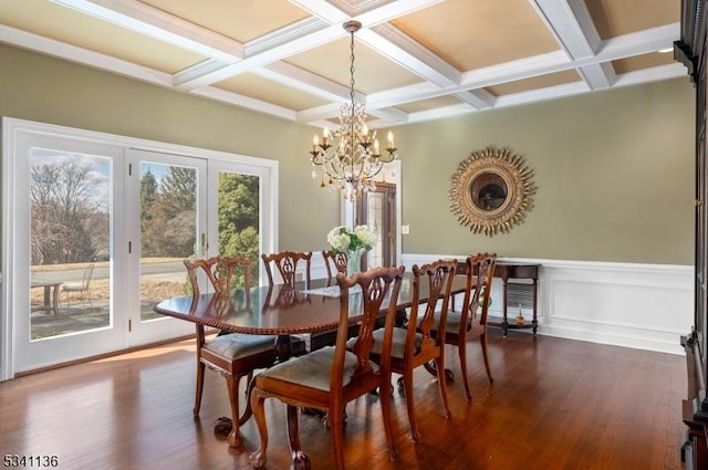
[{"label": "entire set of three white French doors with surrounding frame", "polygon": [[189,294],[183,260],[249,255],[258,273],[275,248],[273,163],[9,121],[0,379],[192,334],[153,312]]}]

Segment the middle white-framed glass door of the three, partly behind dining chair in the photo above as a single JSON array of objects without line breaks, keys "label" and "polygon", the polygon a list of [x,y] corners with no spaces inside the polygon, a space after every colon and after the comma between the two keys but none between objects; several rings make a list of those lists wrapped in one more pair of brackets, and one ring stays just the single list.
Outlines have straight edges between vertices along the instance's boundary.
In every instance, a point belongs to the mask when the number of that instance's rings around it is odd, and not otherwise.
[{"label": "middle white-framed glass door of the three, partly behind dining chair", "polygon": [[[157,152],[127,150],[128,194],[124,247],[134,272],[126,279],[127,345],[169,340],[194,325],[158,315],[159,301],[186,295],[183,260],[205,254],[208,231],[207,160]],[[137,216],[137,217],[133,217]]]}]

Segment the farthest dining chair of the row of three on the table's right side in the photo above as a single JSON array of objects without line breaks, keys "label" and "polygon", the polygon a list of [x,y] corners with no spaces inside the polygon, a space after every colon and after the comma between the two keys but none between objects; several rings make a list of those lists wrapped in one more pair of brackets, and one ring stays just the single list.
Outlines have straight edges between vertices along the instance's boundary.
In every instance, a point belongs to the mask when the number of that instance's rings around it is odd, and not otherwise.
[{"label": "farthest dining chair of the row of three on the table's right side", "polygon": [[[459,311],[451,309],[447,314],[445,343],[457,346],[468,401],[472,399],[467,377],[468,341],[479,338],[487,377],[490,384],[493,383],[487,355],[487,315],[496,263],[496,253],[478,253],[467,257],[465,263],[458,264],[457,274],[466,276],[462,306]],[[435,328],[437,330],[437,326]]]}]

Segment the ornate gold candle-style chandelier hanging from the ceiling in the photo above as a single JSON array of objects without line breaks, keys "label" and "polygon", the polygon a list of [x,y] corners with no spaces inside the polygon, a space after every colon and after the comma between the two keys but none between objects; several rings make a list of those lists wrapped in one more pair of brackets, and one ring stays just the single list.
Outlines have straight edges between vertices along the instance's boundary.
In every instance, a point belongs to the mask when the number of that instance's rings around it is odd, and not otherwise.
[{"label": "ornate gold candle-style chandelier hanging from the ceiling", "polygon": [[[354,33],[362,28],[358,21],[343,24],[350,33],[350,103],[340,108],[340,126],[330,132],[322,130],[312,139],[312,177],[320,177],[320,187],[341,189],[345,199],[354,201],[362,191],[376,189],[375,178],[384,165],[396,159],[394,135],[388,132],[387,144],[382,154],[376,130],[366,126],[364,105],[354,100]],[[331,149],[331,152],[330,152]]]}]

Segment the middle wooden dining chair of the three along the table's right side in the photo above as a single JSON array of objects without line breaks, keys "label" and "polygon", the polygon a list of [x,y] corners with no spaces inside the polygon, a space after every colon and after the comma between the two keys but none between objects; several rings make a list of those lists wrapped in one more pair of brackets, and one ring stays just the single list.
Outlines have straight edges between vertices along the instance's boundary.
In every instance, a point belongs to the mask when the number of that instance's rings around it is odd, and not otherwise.
[{"label": "middle wooden dining chair of the three along the table's right side", "polygon": [[[450,417],[445,377],[445,322],[457,260],[437,260],[428,264],[413,267],[413,301],[405,327],[394,328],[391,347],[391,370],[402,375],[408,411],[410,434],[420,438],[416,422],[413,373],[416,367],[435,362],[438,389],[445,417]],[[428,300],[420,304],[420,284],[428,284]],[[437,328],[439,331],[436,331]],[[384,358],[382,331],[375,331],[372,359],[379,364]]]}]

